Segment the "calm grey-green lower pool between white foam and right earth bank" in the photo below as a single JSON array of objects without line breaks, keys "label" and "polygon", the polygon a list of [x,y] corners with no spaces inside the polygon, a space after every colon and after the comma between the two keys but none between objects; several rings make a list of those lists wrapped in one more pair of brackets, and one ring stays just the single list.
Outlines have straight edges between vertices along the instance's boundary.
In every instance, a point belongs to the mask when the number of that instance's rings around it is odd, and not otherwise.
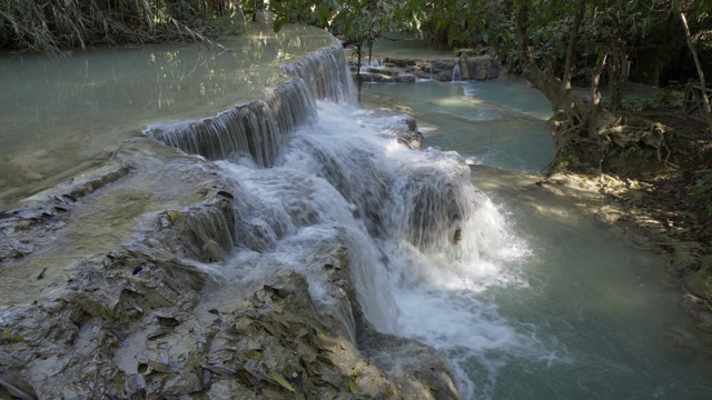
[{"label": "calm grey-green lower pool between white foam and right earth bank", "polygon": [[[566,362],[507,360],[494,382],[479,380],[491,388],[483,397],[710,399],[710,362],[680,310],[665,261],[595,221],[595,196],[541,188],[537,180],[473,167],[472,181],[506,200],[510,221],[532,249],[522,266],[527,286],[495,287],[490,296],[508,321],[534,330]],[[468,368],[476,377],[478,366]]]}]

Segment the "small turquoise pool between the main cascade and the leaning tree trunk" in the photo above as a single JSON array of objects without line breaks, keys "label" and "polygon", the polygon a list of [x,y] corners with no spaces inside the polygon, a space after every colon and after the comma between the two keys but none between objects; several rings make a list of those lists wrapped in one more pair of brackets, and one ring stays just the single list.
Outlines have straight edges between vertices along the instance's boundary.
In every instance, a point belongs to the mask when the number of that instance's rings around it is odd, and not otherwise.
[{"label": "small turquoise pool between the main cascade and the leaning tree trunk", "polygon": [[[486,81],[472,84],[478,83]],[[518,81],[501,82],[494,89],[510,86],[516,88]],[[412,113],[426,128],[426,146],[457,151],[475,163],[540,172],[553,157],[545,123],[486,99],[464,97],[459,83],[372,84],[364,93],[376,104],[385,100]]]}]

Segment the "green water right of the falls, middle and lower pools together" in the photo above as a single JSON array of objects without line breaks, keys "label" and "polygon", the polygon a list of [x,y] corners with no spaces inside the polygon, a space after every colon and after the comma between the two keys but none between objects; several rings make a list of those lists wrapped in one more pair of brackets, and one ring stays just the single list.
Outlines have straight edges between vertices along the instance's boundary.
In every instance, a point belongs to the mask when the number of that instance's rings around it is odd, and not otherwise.
[{"label": "green water right of the falls, middle and lower pools together", "polygon": [[[553,157],[546,99],[517,79],[365,84],[364,94],[409,107],[428,146],[459,152],[472,181],[505,216],[524,254],[500,259],[466,290],[478,342],[473,354],[442,338],[472,381],[473,398],[708,399],[710,360],[695,352],[694,328],[657,254],[636,249],[571,199],[527,190]],[[495,168],[478,168],[488,166]],[[526,186],[525,186],[526,184]],[[583,201],[585,202],[585,201]],[[494,272],[496,271],[496,272]],[[434,324],[439,308],[428,309]],[[416,319],[417,317],[413,317]]]}]

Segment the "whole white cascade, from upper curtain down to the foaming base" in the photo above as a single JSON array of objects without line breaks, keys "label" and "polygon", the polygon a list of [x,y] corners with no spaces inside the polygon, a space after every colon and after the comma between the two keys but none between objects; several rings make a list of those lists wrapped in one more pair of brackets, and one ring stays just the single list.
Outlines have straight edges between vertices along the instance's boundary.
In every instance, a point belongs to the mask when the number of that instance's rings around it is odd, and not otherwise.
[{"label": "whole white cascade, from upper curtain down to the foaming base", "polygon": [[[516,281],[506,266],[524,257],[526,247],[469,184],[461,157],[411,150],[387,132],[406,129],[402,116],[354,107],[340,49],[283,70],[298,79],[257,102],[147,130],[218,160],[234,182],[231,273],[247,279],[286,264],[305,273],[313,298],[327,302],[305,260],[314,257],[307,256],[314,243],[338,238],[365,318],[383,332],[444,351],[464,398],[491,393],[506,362],[494,350],[554,359],[534,333],[517,331],[479,298],[483,288]],[[356,343],[350,310],[339,318]]]}]

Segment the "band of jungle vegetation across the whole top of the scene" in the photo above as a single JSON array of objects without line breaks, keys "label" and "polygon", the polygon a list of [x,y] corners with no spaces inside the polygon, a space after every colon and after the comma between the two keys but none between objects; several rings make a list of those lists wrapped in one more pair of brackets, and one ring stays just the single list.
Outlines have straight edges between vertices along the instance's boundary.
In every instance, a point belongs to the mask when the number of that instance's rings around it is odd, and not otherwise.
[{"label": "band of jungle vegetation across the whole top of the scene", "polygon": [[[0,50],[60,54],[89,44],[209,41],[239,33],[263,9],[275,12],[276,30],[288,22],[322,27],[358,54],[387,32],[409,31],[498,57],[552,103],[552,169],[605,170],[623,156],[664,168],[669,131],[627,112],[646,104],[626,101],[624,83],[679,89],[712,77],[706,0],[2,0]],[[656,106],[680,107],[679,91],[660,93]],[[708,176],[704,192],[712,194]]]}]

